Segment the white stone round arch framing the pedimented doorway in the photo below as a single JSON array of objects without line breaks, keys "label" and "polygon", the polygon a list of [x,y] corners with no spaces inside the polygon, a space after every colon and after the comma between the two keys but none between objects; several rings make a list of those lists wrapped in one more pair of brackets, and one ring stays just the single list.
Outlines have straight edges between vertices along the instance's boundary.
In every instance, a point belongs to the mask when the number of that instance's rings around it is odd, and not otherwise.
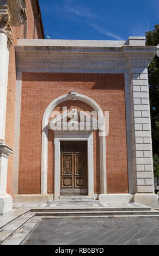
[{"label": "white stone round arch framing the pedimented doorway", "polygon": [[91,106],[99,115],[100,125],[102,131],[100,134],[100,192],[107,193],[106,186],[106,137],[105,137],[105,117],[100,106],[90,97],[77,92],[70,92],[59,96],[53,100],[45,110],[42,118],[42,144],[41,144],[41,194],[47,194],[47,157],[48,157],[48,119],[51,112],[60,103],[68,100],[79,100]]}]

